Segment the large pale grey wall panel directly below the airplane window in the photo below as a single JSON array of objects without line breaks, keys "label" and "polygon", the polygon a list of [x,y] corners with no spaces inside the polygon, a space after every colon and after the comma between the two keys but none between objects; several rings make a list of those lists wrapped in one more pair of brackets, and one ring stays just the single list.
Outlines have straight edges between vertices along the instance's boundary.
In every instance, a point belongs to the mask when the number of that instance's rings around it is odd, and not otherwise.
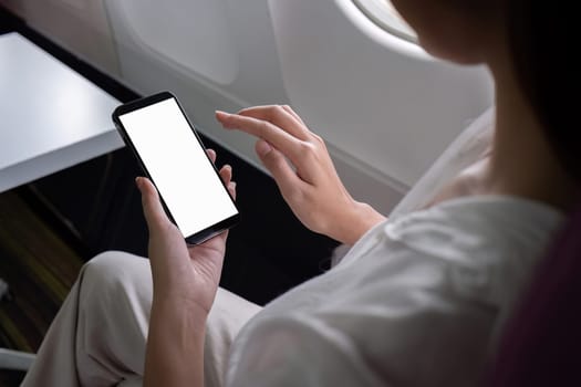
[{"label": "large pale grey wall panel directly below the airplane window", "polygon": [[490,104],[483,69],[370,39],[345,15],[360,13],[350,0],[269,3],[291,102],[326,140],[391,178],[413,184]]}]

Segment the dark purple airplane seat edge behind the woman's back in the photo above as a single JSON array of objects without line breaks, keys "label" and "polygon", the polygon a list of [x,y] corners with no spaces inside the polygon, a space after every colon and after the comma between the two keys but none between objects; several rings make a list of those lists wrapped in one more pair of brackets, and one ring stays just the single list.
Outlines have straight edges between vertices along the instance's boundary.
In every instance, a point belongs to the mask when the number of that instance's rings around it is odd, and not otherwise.
[{"label": "dark purple airplane seat edge behind the woman's back", "polygon": [[581,386],[581,206],[506,325],[487,386]]}]

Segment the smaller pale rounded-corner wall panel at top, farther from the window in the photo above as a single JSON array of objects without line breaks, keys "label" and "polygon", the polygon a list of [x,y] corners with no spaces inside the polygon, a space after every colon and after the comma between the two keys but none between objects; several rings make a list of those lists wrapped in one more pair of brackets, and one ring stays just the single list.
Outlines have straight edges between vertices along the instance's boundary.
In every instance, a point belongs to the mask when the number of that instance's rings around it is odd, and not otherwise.
[{"label": "smaller pale rounded-corner wall panel at top, farther from the window", "polygon": [[220,0],[118,1],[133,40],[168,62],[218,84],[230,84],[238,56]]}]

